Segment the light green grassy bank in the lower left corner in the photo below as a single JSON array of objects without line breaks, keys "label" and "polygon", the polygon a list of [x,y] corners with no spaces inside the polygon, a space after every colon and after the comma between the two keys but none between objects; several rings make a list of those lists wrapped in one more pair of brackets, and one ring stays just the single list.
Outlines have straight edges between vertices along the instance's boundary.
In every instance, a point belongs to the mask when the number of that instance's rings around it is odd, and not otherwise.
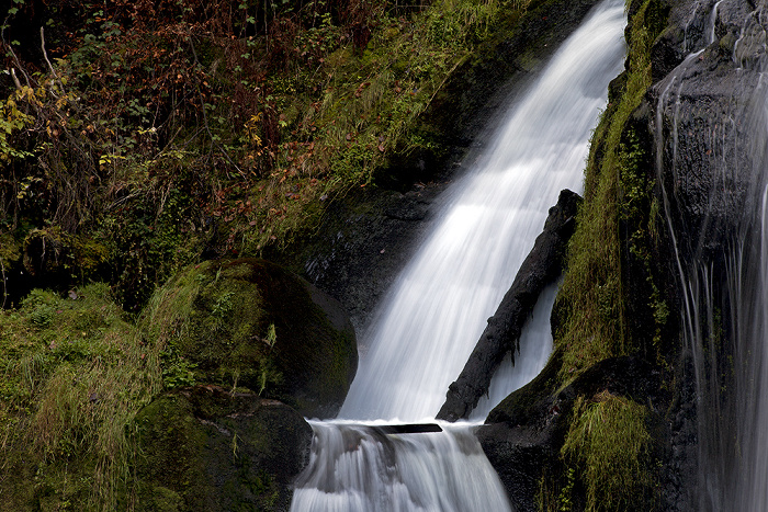
[{"label": "light green grassy bank in the lower left corner", "polygon": [[71,297],[33,291],[0,311],[3,510],[30,509],[25,489],[54,508],[114,510],[133,456],[127,425],[161,385],[156,348],[108,286]]}]

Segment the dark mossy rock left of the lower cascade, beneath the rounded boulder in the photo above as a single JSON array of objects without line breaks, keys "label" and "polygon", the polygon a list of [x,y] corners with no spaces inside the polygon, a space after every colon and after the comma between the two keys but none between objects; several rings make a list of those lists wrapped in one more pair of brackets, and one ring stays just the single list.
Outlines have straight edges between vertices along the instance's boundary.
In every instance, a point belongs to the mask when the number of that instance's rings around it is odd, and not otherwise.
[{"label": "dark mossy rock left of the lower cascade, beneath the rounded boulder", "polygon": [[137,511],[286,510],[312,443],[292,408],[218,386],[168,391],[135,425]]}]

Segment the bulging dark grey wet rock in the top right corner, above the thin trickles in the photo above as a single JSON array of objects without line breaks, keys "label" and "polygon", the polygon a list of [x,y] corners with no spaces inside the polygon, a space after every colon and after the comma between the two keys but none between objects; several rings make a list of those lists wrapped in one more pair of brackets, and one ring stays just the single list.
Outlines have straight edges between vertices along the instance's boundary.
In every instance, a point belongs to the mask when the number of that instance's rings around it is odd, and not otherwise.
[{"label": "bulging dark grey wet rock in the top right corner, above the thin trickles", "polygon": [[[688,10],[676,8],[673,14],[685,18]],[[690,26],[705,25],[709,16],[711,10],[697,14]],[[704,46],[704,36],[694,37],[698,46],[689,42],[687,49],[702,52],[669,70],[648,94],[660,185],[685,259],[716,259],[743,213],[761,201],[761,184],[755,181],[761,162],[754,158],[753,140],[765,115],[756,109],[765,101],[756,67],[765,58],[758,42],[765,42],[766,27],[748,15],[745,2],[723,1],[714,42]],[[681,45],[675,47],[685,52]]]}]

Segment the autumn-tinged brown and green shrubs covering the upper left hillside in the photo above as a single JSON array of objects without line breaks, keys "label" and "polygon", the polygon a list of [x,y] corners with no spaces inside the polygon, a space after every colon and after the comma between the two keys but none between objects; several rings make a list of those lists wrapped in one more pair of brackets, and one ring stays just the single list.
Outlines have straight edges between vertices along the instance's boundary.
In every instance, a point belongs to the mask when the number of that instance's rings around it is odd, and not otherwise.
[{"label": "autumn-tinged brown and green shrubs covering the upper left hillside", "polygon": [[410,127],[502,7],[15,1],[0,232],[108,248],[131,310],[206,251],[284,244],[394,151],[439,150]]}]

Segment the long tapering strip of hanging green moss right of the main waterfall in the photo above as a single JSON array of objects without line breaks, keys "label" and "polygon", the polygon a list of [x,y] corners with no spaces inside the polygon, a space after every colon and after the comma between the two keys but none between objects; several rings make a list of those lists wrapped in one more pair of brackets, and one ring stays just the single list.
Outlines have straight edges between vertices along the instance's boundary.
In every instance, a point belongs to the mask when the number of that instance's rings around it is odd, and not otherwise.
[{"label": "long tapering strip of hanging green moss right of the main waterfall", "polygon": [[[557,306],[566,308],[565,323],[555,333],[557,346],[565,348],[561,379],[575,378],[596,362],[637,350],[625,329],[625,297],[622,289],[619,221],[632,207],[632,190],[623,196],[622,167],[636,156],[622,146],[622,135],[632,111],[651,86],[652,34],[645,26],[651,0],[632,18],[625,91],[618,104],[607,110],[590,146],[585,179],[585,202],[567,253],[567,270]],[[639,172],[635,168],[634,172]],[[626,174],[624,174],[626,175]],[[624,184],[628,184],[625,182]],[[634,183],[633,186],[645,186]],[[646,191],[636,190],[636,194]],[[624,204],[626,202],[626,204]],[[622,209],[623,208],[623,209]],[[659,314],[662,305],[659,304]],[[664,319],[659,317],[659,321]]]}]

